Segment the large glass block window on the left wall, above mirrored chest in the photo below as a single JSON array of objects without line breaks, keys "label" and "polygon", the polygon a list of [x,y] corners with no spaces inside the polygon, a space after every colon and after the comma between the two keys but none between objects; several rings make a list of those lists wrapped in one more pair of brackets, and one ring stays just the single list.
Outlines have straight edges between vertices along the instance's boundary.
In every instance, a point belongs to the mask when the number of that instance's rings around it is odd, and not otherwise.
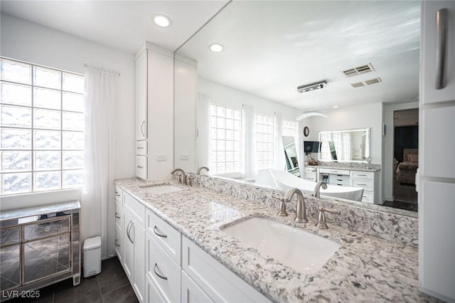
[{"label": "large glass block window on the left wall, above mirrored chest", "polygon": [[0,65],[0,194],[82,187],[84,76]]}]

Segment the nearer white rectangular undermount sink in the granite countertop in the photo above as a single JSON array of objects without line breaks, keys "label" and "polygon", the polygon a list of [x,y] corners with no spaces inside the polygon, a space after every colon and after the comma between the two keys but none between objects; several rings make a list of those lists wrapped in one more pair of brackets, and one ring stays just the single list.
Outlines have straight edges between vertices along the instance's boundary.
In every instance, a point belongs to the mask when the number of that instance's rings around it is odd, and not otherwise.
[{"label": "nearer white rectangular undermount sink in the granite countertop", "polygon": [[298,272],[317,272],[340,248],[336,242],[267,218],[253,217],[223,232]]}]

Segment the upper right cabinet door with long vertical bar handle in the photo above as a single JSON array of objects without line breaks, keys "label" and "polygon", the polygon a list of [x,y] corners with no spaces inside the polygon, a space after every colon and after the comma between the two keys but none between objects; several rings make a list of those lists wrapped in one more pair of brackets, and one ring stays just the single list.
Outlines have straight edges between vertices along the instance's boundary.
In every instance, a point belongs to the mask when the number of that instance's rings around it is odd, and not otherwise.
[{"label": "upper right cabinet door with long vertical bar handle", "polygon": [[[443,54],[438,50],[444,39],[438,38],[438,32],[444,27],[443,19],[439,23],[439,30],[437,28],[437,12],[442,9],[447,9],[447,23],[446,23],[446,53],[445,60],[441,60]],[[455,96],[455,1],[422,1],[422,70],[420,71],[421,79],[424,85],[421,85],[422,95],[421,100],[423,104],[433,104],[436,102],[444,102],[454,100]],[[441,60],[441,61],[439,61]],[[438,62],[441,67],[438,67]],[[437,89],[436,85],[441,73],[445,69],[445,87]]]}]

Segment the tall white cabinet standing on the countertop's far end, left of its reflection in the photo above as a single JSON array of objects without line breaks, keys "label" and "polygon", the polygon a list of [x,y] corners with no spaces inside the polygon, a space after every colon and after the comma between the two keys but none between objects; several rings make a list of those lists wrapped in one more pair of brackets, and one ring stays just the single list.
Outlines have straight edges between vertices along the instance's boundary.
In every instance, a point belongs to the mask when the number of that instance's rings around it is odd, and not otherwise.
[{"label": "tall white cabinet standing on the countertop's far end, left of its reflection", "polygon": [[136,55],[136,176],[167,179],[172,159],[173,53],[146,42]]}]

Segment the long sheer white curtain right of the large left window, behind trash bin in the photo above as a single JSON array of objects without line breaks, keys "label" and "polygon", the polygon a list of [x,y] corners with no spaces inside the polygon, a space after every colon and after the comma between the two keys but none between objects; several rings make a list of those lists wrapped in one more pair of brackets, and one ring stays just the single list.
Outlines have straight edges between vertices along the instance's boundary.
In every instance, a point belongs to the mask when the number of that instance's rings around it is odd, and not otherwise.
[{"label": "long sheer white curtain right of the large left window, behind trash bin", "polygon": [[115,108],[119,74],[86,65],[85,189],[81,239],[101,235],[102,258],[115,254]]}]

